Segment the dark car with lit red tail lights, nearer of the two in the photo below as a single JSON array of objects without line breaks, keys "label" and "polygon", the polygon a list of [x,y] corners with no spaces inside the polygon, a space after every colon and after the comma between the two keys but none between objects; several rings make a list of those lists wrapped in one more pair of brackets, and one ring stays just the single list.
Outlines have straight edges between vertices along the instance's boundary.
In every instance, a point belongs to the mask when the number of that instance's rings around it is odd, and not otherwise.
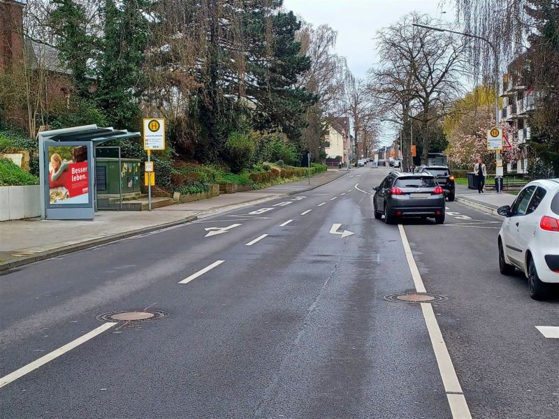
[{"label": "dark car with lit red tail lights, nearer of the two", "polygon": [[428,172],[391,172],[379,186],[375,186],[373,207],[375,219],[384,214],[384,221],[392,224],[405,217],[432,217],[444,223],[444,190]]}]

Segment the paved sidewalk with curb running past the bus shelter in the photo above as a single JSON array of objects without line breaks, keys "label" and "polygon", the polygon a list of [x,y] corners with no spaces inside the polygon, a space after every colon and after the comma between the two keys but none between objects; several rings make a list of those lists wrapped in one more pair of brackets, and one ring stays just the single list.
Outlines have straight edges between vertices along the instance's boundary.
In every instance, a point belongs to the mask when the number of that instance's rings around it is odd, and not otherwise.
[{"label": "paved sidewalk with curb running past the bus shelter", "polygon": [[3,221],[0,223],[0,271],[114,242],[133,235],[194,221],[198,216],[253,205],[310,191],[346,172],[328,170],[307,179],[259,191],[231,193],[212,199],[158,208],[152,212],[103,211],[92,221]]}]

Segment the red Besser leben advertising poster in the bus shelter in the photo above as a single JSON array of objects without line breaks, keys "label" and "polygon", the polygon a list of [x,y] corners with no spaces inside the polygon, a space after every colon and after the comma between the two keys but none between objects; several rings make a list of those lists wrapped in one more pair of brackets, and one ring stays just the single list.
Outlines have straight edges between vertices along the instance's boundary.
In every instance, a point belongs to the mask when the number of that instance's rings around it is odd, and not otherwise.
[{"label": "red Besser leben advertising poster in the bus shelter", "polygon": [[88,204],[87,147],[48,147],[48,186],[51,204]]}]

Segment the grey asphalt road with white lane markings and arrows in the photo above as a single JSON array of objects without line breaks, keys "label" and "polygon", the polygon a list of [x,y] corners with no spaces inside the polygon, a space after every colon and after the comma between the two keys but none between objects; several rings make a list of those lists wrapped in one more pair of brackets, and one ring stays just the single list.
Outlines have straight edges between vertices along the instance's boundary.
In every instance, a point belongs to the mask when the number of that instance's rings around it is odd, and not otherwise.
[{"label": "grey asphalt road with white lane markings and arrows", "polygon": [[[559,298],[499,274],[494,216],[375,220],[388,171],[4,272],[0,417],[558,418]],[[418,278],[443,300],[386,300]]]}]

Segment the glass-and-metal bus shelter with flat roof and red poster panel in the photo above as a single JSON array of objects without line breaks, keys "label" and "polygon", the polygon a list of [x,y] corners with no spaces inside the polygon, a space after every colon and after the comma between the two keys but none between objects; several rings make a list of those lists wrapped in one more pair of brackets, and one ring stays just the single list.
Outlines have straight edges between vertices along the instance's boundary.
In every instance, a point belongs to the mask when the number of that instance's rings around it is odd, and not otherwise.
[{"label": "glass-and-metal bus shelter with flat roof and red poster panel", "polygon": [[96,210],[95,147],[140,133],[96,125],[43,131],[39,140],[41,218],[90,220]]}]

